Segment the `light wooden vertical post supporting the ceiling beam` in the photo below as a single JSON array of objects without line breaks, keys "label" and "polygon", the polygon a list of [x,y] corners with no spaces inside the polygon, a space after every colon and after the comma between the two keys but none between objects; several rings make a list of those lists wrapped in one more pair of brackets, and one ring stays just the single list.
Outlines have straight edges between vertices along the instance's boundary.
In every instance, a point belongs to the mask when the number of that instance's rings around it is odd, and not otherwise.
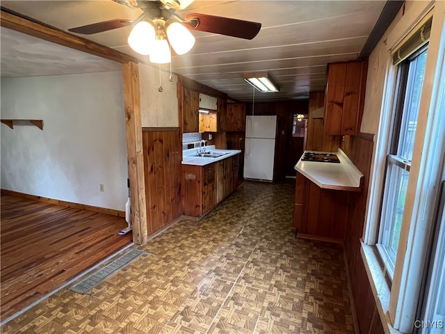
[{"label": "light wooden vertical post supporting the ceiling beam", "polygon": [[122,65],[133,242],[148,241],[138,63]]}]

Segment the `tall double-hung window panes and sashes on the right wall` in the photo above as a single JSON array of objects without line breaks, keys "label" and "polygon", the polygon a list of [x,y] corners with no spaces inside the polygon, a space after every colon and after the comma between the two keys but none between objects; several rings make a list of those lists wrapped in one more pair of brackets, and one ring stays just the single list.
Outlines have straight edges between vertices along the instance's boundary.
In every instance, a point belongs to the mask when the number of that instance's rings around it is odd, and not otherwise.
[{"label": "tall double-hung window panes and sashes on the right wall", "polygon": [[427,47],[423,47],[398,65],[397,99],[389,153],[387,154],[377,244],[380,256],[384,260],[391,278],[394,275],[407,184],[410,177],[426,54]]}]

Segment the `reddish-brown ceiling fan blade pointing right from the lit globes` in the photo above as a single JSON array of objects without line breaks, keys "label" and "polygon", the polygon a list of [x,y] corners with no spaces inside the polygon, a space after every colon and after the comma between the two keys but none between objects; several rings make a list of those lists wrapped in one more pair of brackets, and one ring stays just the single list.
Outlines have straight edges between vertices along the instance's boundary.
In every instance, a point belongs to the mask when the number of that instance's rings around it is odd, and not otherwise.
[{"label": "reddish-brown ceiling fan blade pointing right from the lit globes", "polygon": [[207,14],[188,14],[185,19],[192,30],[219,33],[220,35],[245,38],[246,40],[252,40],[261,29],[261,23]]}]

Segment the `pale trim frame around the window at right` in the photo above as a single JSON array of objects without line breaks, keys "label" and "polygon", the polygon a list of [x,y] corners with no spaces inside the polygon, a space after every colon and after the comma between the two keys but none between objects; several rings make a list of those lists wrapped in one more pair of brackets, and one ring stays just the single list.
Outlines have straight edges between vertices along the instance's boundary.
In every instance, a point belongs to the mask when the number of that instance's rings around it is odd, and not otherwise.
[{"label": "pale trim frame around the window at right", "polygon": [[[383,188],[390,137],[391,122],[388,120],[391,120],[391,112],[396,99],[394,92],[397,71],[389,58],[391,54],[387,54],[385,65],[382,65],[384,76],[381,78],[383,81],[380,122],[377,129],[375,154],[371,161],[369,200],[366,203],[361,252],[385,333],[400,333],[398,331],[411,333],[414,321],[417,319],[413,305],[419,303],[419,291],[423,285],[422,275],[425,275],[426,253],[430,247],[428,234],[431,232],[429,223],[432,210],[428,203],[434,202],[437,196],[439,166],[442,161],[437,152],[445,152],[445,141],[442,143],[445,138],[445,128],[442,125],[445,121],[445,111],[440,109],[440,106],[444,104],[439,100],[445,90],[445,3],[442,1],[412,3],[412,7],[405,13],[407,15],[396,23],[396,29],[390,31],[387,38],[383,40],[383,45],[389,45],[389,51],[393,51],[394,47],[414,29],[412,27],[421,24],[422,21],[428,19],[428,16],[432,16],[432,8],[434,8],[435,17],[432,20],[426,77],[421,90],[421,114],[416,125],[416,141],[410,170],[415,177],[411,177],[408,184],[400,239],[403,246],[398,247],[398,259],[392,284],[385,282],[380,266],[375,265],[378,262],[378,256],[374,255],[375,235],[378,230],[378,217],[380,217],[380,194]],[[380,66],[378,71],[380,71]]]}]

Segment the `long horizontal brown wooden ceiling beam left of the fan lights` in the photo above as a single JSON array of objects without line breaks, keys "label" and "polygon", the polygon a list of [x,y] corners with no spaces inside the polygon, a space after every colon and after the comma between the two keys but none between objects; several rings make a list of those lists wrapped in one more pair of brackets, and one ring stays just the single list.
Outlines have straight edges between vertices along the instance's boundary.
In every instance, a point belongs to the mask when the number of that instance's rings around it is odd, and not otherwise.
[{"label": "long horizontal brown wooden ceiling beam left of the fan lights", "polygon": [[35,22],[28,17],[20,17],[13,13],[8,13],[5,8],[1,8],[0,25],[4,28],[19,31],[26,35],[31,35],[48,42],[53,42],[64,47],[70,47],[88,54],[94,54],[110,61],[118,63],[145,62],[142,58],[135,58],[122,52],[116,51],[96,42],[79,38],[76,35],[66,33],[65,31],[56,29],[52,26],[44,25],[42,22]]}]

